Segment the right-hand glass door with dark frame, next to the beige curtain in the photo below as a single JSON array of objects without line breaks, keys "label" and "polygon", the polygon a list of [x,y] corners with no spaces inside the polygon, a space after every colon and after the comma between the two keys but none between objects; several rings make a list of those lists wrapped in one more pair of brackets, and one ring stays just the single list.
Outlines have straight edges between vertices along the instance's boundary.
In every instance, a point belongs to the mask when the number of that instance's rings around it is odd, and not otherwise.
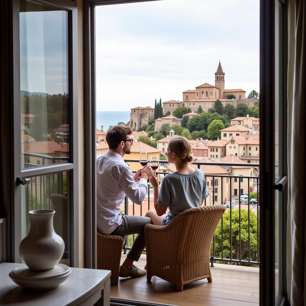
[{"label": "right-hand glass door with dark frame, next to the beige curtain", "polygon": [[260,304],[281,305],[286,294],[287,12],[281,0],[261,5]]}]

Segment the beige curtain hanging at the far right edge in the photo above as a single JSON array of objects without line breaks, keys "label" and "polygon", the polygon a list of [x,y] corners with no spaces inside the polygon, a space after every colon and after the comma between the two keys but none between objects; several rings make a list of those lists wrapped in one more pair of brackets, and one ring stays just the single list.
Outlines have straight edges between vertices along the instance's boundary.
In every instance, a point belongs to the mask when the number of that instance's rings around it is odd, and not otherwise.
[{"label": "beige curtain hanging at the far right edge", "polygon": [[287,291],[306,305],[306,1],[288,0],[288,223]]}]

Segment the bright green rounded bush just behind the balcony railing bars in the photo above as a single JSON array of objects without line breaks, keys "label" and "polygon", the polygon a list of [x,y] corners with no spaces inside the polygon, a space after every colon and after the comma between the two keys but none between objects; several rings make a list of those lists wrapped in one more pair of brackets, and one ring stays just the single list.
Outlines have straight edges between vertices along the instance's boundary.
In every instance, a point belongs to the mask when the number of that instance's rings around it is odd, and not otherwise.
[{"label": "bright green rounded bush just behind the balcony railing bars", "polygon": [[[241,209],[241,217],[239,209],[232,209],[223,214],[223,231],[221,220],[215,231],[215,257],[221,257],[222,254],[222,234],[223,234],[223,257],[230,258],[230,214],[232,214],[232,258],[248,260],[248,211]],[[241,245],[239,239],[239,218],[241,219]],[[250,255],[251,260],[258,259],[257,238],[259,231],[257,229],[257,215],[250,211]],[[241,246],[241,254],[240,254]],[[211,243],[211,254],[213,251],[213,243]],[[230,263],[235,264],[235,263]]]}]

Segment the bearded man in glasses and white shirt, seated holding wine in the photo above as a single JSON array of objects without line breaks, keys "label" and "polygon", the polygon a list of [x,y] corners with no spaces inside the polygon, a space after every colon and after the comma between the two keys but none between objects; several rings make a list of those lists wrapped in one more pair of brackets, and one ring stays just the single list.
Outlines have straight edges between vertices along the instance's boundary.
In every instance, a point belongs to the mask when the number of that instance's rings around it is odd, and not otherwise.
[{"label": "bearded man in glasses and white shirt, seated holding wine", "polygon": [[138,233],[119,271],[120,277],[135,278],[147,273],[146,270],[134,266],[133,262],[139,260],[145,248],[144,226],[152,223],[152,220],[148,217],[120,214],[120,205],[125,195],[136,204],[144,201],[148,191],[147,180],[153,170],[147,164],[133,177],[131,168],[123,160],[125,154],[131,153],[131,134],[131,128],[122,125],[109,129],[106,142],[110,149],[97,157],[97,228],[99,233],[107,235],[126,236]]}]

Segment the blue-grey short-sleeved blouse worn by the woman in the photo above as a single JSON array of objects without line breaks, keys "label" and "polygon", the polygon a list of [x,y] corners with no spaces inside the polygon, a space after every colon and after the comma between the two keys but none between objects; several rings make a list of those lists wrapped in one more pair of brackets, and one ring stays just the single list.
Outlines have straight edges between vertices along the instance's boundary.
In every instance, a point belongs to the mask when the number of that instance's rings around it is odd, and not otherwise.
[{"label": "blue-grey short-sleeved blouse worn by the woman", "polygon": [[175,216],[189,208],[200,207],[202,199],[209,196],[203,171],[195,169],[191,174],[173,172],[162,179],[157,203],[169,207],[162,225],[168,224]]}]

